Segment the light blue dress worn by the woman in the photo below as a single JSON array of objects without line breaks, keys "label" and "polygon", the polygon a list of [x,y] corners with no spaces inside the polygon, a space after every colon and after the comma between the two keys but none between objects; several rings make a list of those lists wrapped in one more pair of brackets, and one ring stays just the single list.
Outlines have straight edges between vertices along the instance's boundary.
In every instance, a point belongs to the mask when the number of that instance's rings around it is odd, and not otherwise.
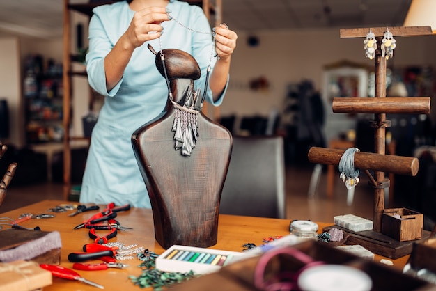
[{"label": "light blue dress worn by the woman", "polygon": [[[170,1],[167,8],[171,10],[174,19],[190,29],[211,31],[208,19],[200,7]],[[123,78],[115,88],[107,92],[104,57],[127,30],[134,11],[130,10],[126,1],[121,1],[98,6],[93,12],[89,24],[86,70],[89,84],[106,97],[91,136],[80,202],[114,202],[116,205],[130,203],[134,207],[150,208],[146,185],[134,157],[131,136],[141,125],[159,115],[166,104],[168,89],[164,77],[155,66],[155,55],[147,47],[150,43],[159,52],[161,45],[159,40],[153,40],[135,49]],[[195,86],[203,91],[210,56],[216,54],[212,36],[195,33],[174,20],[164,22],[162,26],[162,49],[182,49],[194,56],[202,72],[201,79],[195,82]],[[212,68],[215,61],[216,58],[212,57]],[[212,102],[209,89],[208,101],[218,106],[224,93],[217,102]]]}]

